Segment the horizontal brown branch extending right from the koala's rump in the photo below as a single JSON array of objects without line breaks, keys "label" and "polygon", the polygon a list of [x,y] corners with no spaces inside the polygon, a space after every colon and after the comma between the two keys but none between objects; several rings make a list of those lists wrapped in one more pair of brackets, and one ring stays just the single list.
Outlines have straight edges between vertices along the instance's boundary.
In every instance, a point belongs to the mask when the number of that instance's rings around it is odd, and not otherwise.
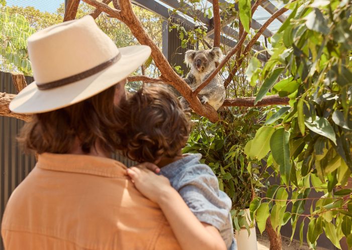
[{"label": "horizontal brown branch extending right from the koala's rump", "polygon": [[257,106],[270,106],[270,105],[288,105],[290,99],[288,97],[279,97],[277,95],[265,96],[263,99],[254,106],[255,97],[242,97],[226,99],[222,106],[224,107],[257,107]]}]

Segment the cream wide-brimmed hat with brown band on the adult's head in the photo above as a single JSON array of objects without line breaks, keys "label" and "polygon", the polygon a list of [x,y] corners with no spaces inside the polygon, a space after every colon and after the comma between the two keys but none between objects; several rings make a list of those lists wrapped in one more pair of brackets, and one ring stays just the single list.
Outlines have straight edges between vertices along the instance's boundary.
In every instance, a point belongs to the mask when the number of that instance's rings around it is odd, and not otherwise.
[{"label": "cream wide-brimmed hat with brown band on the adult's head", "polygon": [[43,113],[117,84],[150,55],[144,45],[117,48],[91,16],[54,25],[28,39],[35,81],[10,103],[15,113]]}]

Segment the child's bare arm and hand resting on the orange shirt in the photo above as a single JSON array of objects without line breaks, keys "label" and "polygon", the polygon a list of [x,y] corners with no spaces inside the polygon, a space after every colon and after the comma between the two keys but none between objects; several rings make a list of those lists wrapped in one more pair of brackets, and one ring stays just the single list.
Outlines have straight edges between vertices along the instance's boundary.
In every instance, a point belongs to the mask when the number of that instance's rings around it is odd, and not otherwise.
[{"label": "child's bare arm and hand resting on the orange shirt", "polygon": [[159,204],[183,250],[226,250],[218,229],[201,223],[167,178],[133,167],[127,174],[144,196]]}]

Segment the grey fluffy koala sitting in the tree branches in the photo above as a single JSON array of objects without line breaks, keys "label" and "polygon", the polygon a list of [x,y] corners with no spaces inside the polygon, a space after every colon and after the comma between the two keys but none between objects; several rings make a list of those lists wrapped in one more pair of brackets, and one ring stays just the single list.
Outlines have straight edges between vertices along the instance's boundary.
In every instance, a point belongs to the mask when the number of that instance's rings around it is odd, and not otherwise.
[{"label": "grey fluffy koala sitting in the tree branches", "polygon": [[[216,68],[215,63],[219,63],[222,57],[220,48],[212,48],[208,50],[188,50],[185,56],[187,66],[191,67],[190,72],[184,80],[192,88],[197,89],[202,82]],[[198,94],[203,104],[208,103],[215,110],[218,110],[225,100],[224,82],[219,74],[215,76],[209,84],[204,87]],[[181,104],[184,109],[188,109],[189,103],[186,99],[181,98]]]}]

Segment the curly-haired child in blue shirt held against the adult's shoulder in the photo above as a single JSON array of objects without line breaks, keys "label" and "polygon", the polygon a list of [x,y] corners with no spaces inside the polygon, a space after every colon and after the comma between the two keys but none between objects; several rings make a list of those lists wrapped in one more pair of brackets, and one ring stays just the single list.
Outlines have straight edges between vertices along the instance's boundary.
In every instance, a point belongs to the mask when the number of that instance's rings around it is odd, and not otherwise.
[{"label": "curly-haired child in blue shirt held against the adult's shoulder", "polygon": [[156,175],[132,167],[127,175],[144,196],[158,203],[181,247],[236,249],[230,198],[219,190],[209,166],[200,163],[201,154],[182,154],[191,125],[179,100],[164,87],[143,87],[121,103],[119,112],[124,118],[117,131],[119,149],[161,169]]}]

